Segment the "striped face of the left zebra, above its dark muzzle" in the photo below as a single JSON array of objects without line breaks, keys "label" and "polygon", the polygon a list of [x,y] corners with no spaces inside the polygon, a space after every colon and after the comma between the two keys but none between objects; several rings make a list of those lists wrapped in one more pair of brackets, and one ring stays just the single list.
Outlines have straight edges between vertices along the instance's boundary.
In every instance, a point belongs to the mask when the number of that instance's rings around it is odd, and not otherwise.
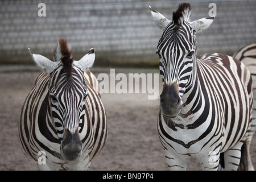
[{"label": "striped face of the left zebra, above its dark muzzle", "polygon": [[[53,122],[59,129],[75,133],[85,115],[87,84],[80,68],[72,68],[72,77],[57,68],[49,77],[49,100],[51,101]],[[59,135],[59,138],[63,136]]]}]

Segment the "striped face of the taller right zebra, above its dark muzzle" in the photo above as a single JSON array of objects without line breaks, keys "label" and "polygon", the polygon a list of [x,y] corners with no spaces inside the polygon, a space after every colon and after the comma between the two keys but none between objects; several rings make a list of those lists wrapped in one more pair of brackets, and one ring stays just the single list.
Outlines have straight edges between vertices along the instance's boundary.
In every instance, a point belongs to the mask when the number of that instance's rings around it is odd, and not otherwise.
[{"label": "striped face of the taller right zebra, above its dark muzzle", "polygon": [[184,92],[195,68],[195,51],[195,31],[192,32],[189,23],[184,22],[179,30],[173,23],[167,26],[156,51],[160,57],[160,74],[163,77],[163,84],[177,82],[183,85],[180,86],[182,90],[180,94]]}]

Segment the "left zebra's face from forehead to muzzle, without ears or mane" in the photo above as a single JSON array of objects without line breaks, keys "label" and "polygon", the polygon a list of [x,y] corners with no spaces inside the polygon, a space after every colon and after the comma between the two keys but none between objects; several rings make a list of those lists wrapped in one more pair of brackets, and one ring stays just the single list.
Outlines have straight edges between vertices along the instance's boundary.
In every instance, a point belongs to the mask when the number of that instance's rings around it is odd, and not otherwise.
[{"label": "left zebra's face from forehead to muzzle, without ears or mane", "polygon": [[76,160],[81,156],[82,142],[79,125],[84,123],[85,99],[88,95],[87,84],[81,69],[73,66],[71,74],[68,78],[63,68],[59,67],[49,76],[52,119],[61,140],[61,155],[67,161]]}]

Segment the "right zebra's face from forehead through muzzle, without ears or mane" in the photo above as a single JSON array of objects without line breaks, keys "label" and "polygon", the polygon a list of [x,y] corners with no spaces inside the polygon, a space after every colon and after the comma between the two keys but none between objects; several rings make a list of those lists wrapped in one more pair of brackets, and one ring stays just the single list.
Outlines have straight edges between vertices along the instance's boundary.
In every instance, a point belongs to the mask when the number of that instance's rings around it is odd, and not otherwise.
[{"label": "right zebra's face from forehead through muzzle, without ears or mane", "polygon": [[[178,29],[178,30],[177,30]],[[170,23],[159,40],[157,53],[164,89],[160,95],[160,108],[164,115],[175,117],[183,105],[181,100],[187,88],[194,84],[196,75],[195,31],[188,22],[179,27]],[[176,97],[176,95],[178,95]],[[175,99],[174,99],[175,98]],[[169,109],[164,109],[169,107]]]}]

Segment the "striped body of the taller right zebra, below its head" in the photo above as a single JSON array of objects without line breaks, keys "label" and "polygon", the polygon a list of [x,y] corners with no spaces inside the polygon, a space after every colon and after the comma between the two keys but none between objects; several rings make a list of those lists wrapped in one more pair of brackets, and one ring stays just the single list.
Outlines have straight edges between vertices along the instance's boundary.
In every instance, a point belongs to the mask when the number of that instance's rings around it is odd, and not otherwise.
[{"label": "striped body of the taller right zebra, below its head", "polygon": [[[224,60],[228,66],[226,69],[225,67],[218,67],[218,65],[222,66]],[[240,69],[240,71],[245,69],[243,64],[240,65],[239,61],[236,62],[233,61],[232,57],[218,53],[203,55],[201,60],[197,60],[198,77],[196,84],[191,88],[188,96],[183,95],[185,104],[180,114],[174,119],[168,119],[160,111],[158,132],[161,143],[166,150],[166,158],[184,160],[184,166],[172,164],[172,162],[168,163],[170,168],[179,169],[181,167],[181,169],[185,169],[186,160],[193,156],[199,160],[203,169],[214,169],[217,167],[218,155],[221,152],[226,152],[227,156],[240,155],[240,153],[236,154],[234,151],[241,148],[246,140],[247,131],[250,129],[251,109],[246,105],[251,103],[252,97],[251,94],[243,97],[243,95],[240,95],[241,93],[234,92],[234,89],[237,89],[236,86],[239,86],[238,88],[241,90],[247,90],[247,85],[251,83],[249,71],[241,74],[242,77],[230,72],[236,69]],[[211,64],[216,65],[216,67],[212,67]],[[230,75],[224,76],[226,71],[229,71]],[[214,75],[212,77],[204,76],[210,76],[209,73],[214,73]],[[241,82],[233,85],[234,78]],[[218,80],[218,82],[214,83],[212,80]],[[246,80],[245,85],[242,82],[243,80]],[[220,89],[225,87],[226,90]],[[251,93],[251,90],[248,91]],[[233,100],[226,100],[228,97],[233,98]],[[243,104],[244,101],[246,101],[245,104]],[[210,105],[214,105],[212,110],[205,110]],[[194,113],[194,110],[196,113]],[[241,110],[245,111],[245,113],[242,113],[245,118],[237,117]],[[233,121],[233,123],[230,121]],[[237,127],[238,123],[244,127]],[[229,138],[234,140],[229,140]],[[239,160],[236,161],[237,165],[239,163]],[[236,166],[231,167],[236,168]]]}]

